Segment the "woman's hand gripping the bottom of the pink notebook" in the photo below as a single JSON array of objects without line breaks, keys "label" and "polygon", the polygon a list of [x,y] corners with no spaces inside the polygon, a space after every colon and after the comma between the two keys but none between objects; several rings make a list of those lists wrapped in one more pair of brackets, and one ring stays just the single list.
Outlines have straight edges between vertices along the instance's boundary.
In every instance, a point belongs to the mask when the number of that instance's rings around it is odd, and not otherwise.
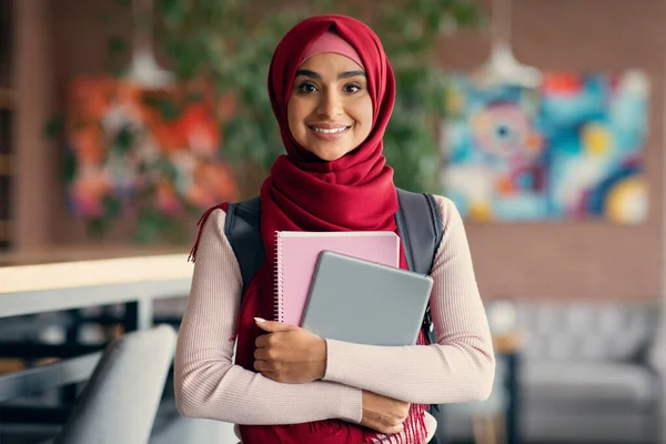
[{"label": "woman's hand gripping the bottom of the pink notebook", "polygon": [[326,373],[326,342],[295,325],[256,317],[269,334],[256,339],[254,370],[286,384],[321,380]]}]

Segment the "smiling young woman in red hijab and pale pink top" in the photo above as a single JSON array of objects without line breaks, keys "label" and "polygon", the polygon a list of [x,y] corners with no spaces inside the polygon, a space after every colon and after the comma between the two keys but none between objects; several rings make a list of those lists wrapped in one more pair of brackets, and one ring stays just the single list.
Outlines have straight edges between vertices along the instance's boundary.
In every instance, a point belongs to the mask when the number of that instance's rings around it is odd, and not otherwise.
[{"label": "smiling young woman in red hijab and pale pink top", "polygon": [[422,444],[436,424],[427,404],[484,400],[494,380],[461,216],[436,196],[444,236],[432,270],[435,344],[423,333],[405,347],[324,341],[265,321],[273,313],[275,231],[397,233],[398,208],[382,154],[395,82],[370,28],[343,16],[300,22],[275,50],[269,93],[286,155],[261,188],[266,261],[241,294],[224,236],[226,205],[202,218],[175,360],[179,411],[240,424],[243,444]]}]

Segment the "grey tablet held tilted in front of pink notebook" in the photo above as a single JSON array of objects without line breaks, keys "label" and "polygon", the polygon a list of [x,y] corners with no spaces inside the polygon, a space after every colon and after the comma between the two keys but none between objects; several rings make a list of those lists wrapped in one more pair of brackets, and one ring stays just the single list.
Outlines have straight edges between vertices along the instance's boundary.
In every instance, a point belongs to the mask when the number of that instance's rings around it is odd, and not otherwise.
[{"label": "grey tablet held tilted in front of pink notebook", "polygon": [[414,345],[432,287],[430,276],[324,251],[301,326],[322,339]]}]

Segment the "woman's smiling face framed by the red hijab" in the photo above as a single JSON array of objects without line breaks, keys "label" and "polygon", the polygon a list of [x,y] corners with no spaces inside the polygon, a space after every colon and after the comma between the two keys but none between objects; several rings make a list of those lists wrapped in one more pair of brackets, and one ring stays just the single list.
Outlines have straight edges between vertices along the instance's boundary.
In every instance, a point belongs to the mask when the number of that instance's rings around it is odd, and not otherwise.
[{"label": "woman's smiling face framed by the red hijab", "polygon": [[289,129],[295,141],[324,161],[353,151],[372,130],[367,78],[353,60],[321,53],[296,72],[287,103]]}]

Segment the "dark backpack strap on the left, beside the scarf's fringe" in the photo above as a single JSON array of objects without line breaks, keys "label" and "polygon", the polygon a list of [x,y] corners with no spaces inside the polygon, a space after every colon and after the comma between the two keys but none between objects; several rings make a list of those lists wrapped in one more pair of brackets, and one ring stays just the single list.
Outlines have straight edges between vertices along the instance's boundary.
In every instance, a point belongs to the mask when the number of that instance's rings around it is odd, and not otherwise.
[{"label": "dark backpack strap on the left, beside the scarf's fringe", "polygon": [[239,261],[244,289],[265,258],[261,239],[261,201],[259,198],[229,204],[224,235]]}]

